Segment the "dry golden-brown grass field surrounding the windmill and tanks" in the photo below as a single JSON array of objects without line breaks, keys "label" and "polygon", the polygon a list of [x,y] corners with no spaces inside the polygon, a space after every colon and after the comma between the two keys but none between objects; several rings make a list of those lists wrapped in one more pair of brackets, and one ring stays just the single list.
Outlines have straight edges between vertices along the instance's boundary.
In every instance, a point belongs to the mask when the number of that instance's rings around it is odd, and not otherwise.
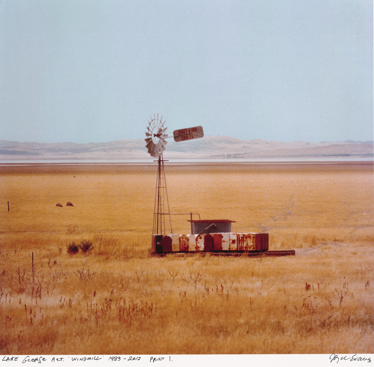
[{"label": "dry golden-brown grass field surrounding the windmill and tanks", "polygon": [[373,162],[165,170],[171,212],[296,256],[151,257],[155,165],[1,165],[1,354],[374,352]]}]

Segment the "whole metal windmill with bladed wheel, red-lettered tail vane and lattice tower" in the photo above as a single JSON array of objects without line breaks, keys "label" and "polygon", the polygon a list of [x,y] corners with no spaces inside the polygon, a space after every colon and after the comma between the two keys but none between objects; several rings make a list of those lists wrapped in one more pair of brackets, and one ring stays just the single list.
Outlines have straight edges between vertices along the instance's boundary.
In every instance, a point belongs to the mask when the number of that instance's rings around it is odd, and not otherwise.
[{"label": "whole metal windmill with bladed wheel, red-lettered tail vane and lattice tower", "polygon": [[[159,119],[159,114],[151,115],[151,120],[148,121],[147,131],[145,135],[146,145],[148,153],[151,157],[158,158],[157,166],[157,179],[156,179],[156,193],[154,195],[154,211],[153,211],[153,229],[152,235],[163,235],[166,233],[166,222],[169,222],[170,233],[173,233],[171,227],[171,217],[169,210],[169,199],[168,191],[166,189],[166,179],[165,179],[165,169],[162,153],[165,151],[165,146],[168,143],[166,139],[168,134],[166,130],[168,129],[165,125],[165,120],[162,122],[162,116]],[[174,141],[180,142],[185,140],[202,138],[204,136],[202,126],[196,126],[193,128],[174,130],[173,137]],[[165,217],[168,220],[165,220]]]}]

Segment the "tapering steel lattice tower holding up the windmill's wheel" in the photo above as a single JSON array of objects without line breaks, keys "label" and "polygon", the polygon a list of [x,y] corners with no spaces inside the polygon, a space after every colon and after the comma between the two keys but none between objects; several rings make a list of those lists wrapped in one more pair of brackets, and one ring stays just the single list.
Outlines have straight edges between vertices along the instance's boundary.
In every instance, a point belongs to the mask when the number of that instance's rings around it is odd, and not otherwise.
[{"label": "tapering steel lattice tower holding up the windmill's wheel", "polygon": [[[171,217],[169,210],[168,190],[166,189],[166,178],[164,169],[164,160],[162,154],[159,156],[156,180],[156,193],[154,195],[154,211],[153,211],[153,235],[165,236],[165,216],[169,217],[170,233],[173,233],[171,228]],[[165,198],[167,205],[167,212],[165,211]]]}]

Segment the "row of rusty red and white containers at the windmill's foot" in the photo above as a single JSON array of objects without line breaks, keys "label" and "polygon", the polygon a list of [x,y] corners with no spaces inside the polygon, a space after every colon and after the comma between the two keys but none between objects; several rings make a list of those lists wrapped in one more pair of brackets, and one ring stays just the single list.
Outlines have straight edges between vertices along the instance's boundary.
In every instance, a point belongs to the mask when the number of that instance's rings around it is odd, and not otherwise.
[{"label": "row of rusty red and white containers at the windmill's foot", "polygon": [[152,236],[152,252],[267,251],[269,233],[207,233]]}]

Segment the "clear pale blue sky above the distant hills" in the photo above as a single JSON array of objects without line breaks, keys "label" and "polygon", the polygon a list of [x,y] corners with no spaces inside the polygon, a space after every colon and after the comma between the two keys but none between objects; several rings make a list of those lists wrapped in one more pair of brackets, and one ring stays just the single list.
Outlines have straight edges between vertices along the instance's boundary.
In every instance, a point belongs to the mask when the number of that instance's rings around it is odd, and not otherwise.
[{"label": "clear pale blue sky above the distant hills", "polygon": [[370,0],[0,0],[0,139],[373,140]]}]

